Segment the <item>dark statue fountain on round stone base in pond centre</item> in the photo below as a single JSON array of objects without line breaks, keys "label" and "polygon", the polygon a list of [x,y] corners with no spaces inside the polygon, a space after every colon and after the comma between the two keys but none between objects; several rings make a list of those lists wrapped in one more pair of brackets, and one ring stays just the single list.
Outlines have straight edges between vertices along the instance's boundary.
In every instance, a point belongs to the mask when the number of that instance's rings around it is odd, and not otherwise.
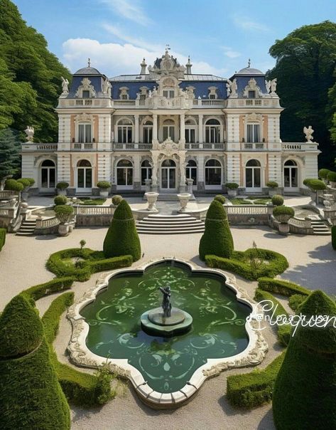
[{"label": "dark statue fountain on round stone base in pond centre", "polygon": [[193,317],[171,305],[170,285],[159,287],[163,293],[162,308],[147,310],[141,315],[141,327],[148,335],[174,336],[188,332]]}]

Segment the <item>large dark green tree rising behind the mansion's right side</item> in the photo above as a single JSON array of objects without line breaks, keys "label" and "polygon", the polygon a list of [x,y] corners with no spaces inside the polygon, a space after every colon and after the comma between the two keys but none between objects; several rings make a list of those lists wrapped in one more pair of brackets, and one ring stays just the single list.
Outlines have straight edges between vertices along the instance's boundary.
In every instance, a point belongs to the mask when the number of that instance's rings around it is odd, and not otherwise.
[{"label": "large dark green tree rising behind the mansion's right side", "polygon": [[303,127],[312,125],[315,140],[323,151],[320,162],[331,167],[329,129],[336,111],[336,23],[324,21],[302,26],[277,40],[269,53],[276,58],[276,65],[268,78],[278,78],[277,93],[285,108],[282,140],[301,142]]}]

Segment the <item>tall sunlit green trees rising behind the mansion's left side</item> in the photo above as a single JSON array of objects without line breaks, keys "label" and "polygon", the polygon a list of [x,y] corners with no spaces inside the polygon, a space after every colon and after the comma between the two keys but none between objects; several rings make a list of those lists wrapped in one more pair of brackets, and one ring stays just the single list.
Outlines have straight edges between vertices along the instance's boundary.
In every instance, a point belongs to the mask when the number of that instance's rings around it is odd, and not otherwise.
[{"label": "tall sunlit green trees rising behind the mansion's left side", "polygon": [[0,129],[32,125],[36,141],[55,142],[60,78],[70,72],[10,0],[0,0],[0,16]]}]

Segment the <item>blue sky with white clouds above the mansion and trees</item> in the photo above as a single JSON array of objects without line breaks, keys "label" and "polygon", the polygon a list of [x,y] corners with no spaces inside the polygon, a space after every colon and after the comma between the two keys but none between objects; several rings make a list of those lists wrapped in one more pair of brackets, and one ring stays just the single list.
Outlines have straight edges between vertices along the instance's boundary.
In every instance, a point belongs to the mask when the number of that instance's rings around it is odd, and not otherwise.
[{"label": "blue sky with white clouds above the mansion and trees", "polygon": [[247,65],[266,71],[269,47],[295,28],[336,19],[336,0],[14,0],[28,25],[74,72],[139,73],[165,46],[193,73],[224,77]]}]

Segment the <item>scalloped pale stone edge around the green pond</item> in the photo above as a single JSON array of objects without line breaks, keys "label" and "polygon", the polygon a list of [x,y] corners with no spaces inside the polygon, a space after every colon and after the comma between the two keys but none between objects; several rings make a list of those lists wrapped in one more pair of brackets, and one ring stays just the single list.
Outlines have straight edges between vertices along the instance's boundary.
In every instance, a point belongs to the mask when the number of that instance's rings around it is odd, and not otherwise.
[{"label": "scalloped pale stone edge around the green pond", "polygon": [[[264,340],[261,331],[258,330],[259,323],[252,319],[250,323],[245,323],[245,330],[249,336],[249,344],[244,351],[239,352],[237,355],[232,355],[232,357],[208,359],[205,365],[202,365],[195,370],[191,379],[182,389],[172,393],[160,393],[151,389],[146,380],[143,379],[141,372],[139,372],[135,367],[129,365],[127,359],[101,357],[90,351],[86,345],[86,338],[90,327],[86,323],[85,318],[80,315],[82,308],[85,308],[86,305],[92,303],[96,299],[96,296],[108,287],[109,280],[117,273],[143,273],[149,266],[171,260],[185,264],[185,266],[188,266],[192,272],[200,271],[202,273],[216,273],[217,275],[222,276],[227,288],[230,288],[236,294],[237,301],[248,305],[251,308],[251,313],[253,315],[258,313],[257,304],[254,300],[249,298],[249,295],[247,295],[242,288],[237,286],[236,278],[232,274],[226,273],[217,268],[203,268],[201,266],[197,266],[191,261],[174,257],[158,258],[139,266],[111,271],[107,275],[101,276],[97,280],[96,285],[87,290],[82,298],[76,300],[76,302],[67,310],[67,318],[72,324],[72,335],[67,350],[70,353],[70,359],[72,362],[81,367],[98,368],[103,365],[108,367],[111,372],[117,374],[119,377],[129,379],[140,399],[155,409],[168,409],[184,404],[193,397],[207,378],[217,376],[220,372],[232,369],[233,367],[259,365],[262,360],[264,360],[266,352],[268,351],[268,345]],[[251,325],[253,329],[251,328]]]}]

